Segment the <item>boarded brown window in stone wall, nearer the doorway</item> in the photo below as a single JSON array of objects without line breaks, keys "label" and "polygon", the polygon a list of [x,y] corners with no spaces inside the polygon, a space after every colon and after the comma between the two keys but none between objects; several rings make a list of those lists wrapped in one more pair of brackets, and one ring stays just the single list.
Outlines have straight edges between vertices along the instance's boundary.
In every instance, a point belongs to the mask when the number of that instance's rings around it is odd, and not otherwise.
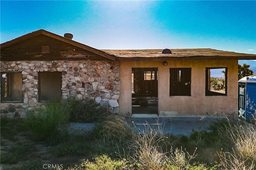
[{"label": "boarded brown window in stone wall, nearer the doorway", "polygon": [[39,101],[61,99],[61,72],[39,72]]}]

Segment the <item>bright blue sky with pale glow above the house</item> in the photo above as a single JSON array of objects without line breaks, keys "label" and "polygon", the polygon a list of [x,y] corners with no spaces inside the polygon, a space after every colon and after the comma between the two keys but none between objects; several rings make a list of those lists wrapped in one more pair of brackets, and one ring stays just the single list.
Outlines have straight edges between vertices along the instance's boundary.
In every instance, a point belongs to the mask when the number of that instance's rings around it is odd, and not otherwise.
[{"label": "bright blue sky with pale glow above the house", "polygon": [[45,29],[97,49],[256,54],[256,1],[0,1],[0,42]]}]

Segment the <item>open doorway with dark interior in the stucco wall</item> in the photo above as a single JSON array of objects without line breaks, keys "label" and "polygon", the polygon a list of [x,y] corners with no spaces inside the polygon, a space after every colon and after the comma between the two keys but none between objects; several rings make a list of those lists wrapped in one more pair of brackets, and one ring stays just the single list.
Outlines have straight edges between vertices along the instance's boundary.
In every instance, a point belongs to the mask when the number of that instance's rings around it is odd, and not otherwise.
[{"label": "open doorway with dark interior in the stucco wall", "polygon": [[158,114],[158,68],[132,68],[132,114]]}]

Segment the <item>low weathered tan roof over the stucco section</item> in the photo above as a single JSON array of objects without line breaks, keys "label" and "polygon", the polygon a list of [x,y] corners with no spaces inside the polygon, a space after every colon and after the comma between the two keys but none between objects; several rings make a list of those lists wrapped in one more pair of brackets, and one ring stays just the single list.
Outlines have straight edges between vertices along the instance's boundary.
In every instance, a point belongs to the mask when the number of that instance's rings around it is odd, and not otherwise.
[{"label": "low weathered tan roof over the stucco section", "polygon": [[176,59],[256,59],[254,54],[235,53],[216,49],[170,49],[172,54],[162,54],[163,49],[137,50],[102,50],[122,58],[121,61],[132,61],[135,58],[152,61]]}]

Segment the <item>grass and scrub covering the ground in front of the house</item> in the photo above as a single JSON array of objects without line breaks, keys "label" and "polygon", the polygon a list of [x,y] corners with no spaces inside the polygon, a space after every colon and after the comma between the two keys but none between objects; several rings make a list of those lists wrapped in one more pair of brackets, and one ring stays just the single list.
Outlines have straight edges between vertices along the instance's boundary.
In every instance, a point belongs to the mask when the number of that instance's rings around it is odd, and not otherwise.
[{"label": "grass and scrub covering the ground in front of the house", "polygon": [[108,115],[79,130],[68,127],[70,112],[67,104],[53,102],[27,119],[1,118],[1,169],[256,169],[252,123],[223,119],[209,131],[184,136],[147,124],[141,131],[129,119]]}]

